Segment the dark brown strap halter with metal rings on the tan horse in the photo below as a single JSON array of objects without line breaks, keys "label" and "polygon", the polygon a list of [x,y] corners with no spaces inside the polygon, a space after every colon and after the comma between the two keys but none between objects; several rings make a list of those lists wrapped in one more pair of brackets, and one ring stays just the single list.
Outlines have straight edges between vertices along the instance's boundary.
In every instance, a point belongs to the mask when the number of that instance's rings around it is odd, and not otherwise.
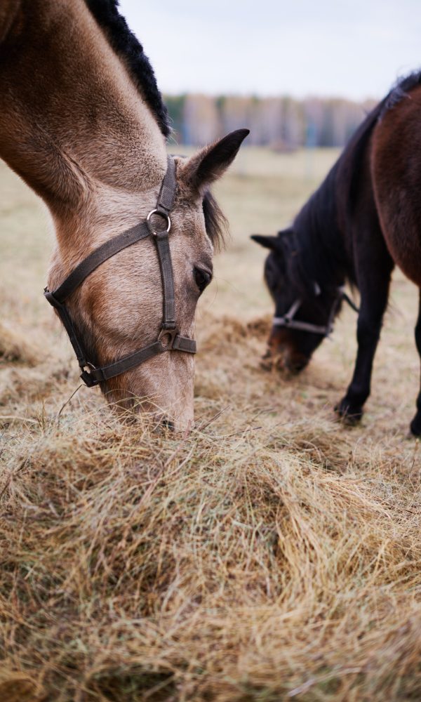
[{"label": "dark brown strap halter with metal rings on the tan horse", "polygon": [[[193,339],[180,336],[175,320],[174,276],[168,240],[168,234],[171,229],[170,213],[175,199],[175,187],[175,161],[171,156],[168,156],[167,171],[162,181],[156,208],[149,212],[146,220],[126,230],[126,232],[119,234],[118,237],[106,241],[105,244],[102,244],[102,246],[99,246],[98,249],[90,253],[89,256],[86,256],[55,291],[51,292],[48,288],[44,290],[46,299],[50,305],[55,307],[65,326],[65,330],[69,335],[70,343],[72,344],[82,371],[81,378],[83,383],[88,385],[88,388],[92,388],[93,385],[98,385],[98,383],[103,383],[105,380],[109,380],[109,378],[115,378],[121,375],[121,373],[126,373],[126,371],[131,371],[131,369],[139,366],[141,363],[147,361],[147,359],[165,351],[196,353],[196,342]],[[160,216],[166,220],[166,229],[155,230],[152,225],[152,216]],[[106,260],[115,256],[119,251],[127,249],[128,246],[132,246],[132,244],[135,244],[137,241],[151,236],[156,245],[162,279],[163,312],[159,336],[153,343],[142,347],[139,351],[135,351],[128,356],[124,356],[119,359],[119,361],[110,363],[107,366],[101,366],[100,368],[95,367],[88,360],[83,344],[76,334],[72,319],[65,306],[65,300],[67,300],[76,288],[83,283],[88,275]],[[89,371],[87,369],[89,369]]]}]

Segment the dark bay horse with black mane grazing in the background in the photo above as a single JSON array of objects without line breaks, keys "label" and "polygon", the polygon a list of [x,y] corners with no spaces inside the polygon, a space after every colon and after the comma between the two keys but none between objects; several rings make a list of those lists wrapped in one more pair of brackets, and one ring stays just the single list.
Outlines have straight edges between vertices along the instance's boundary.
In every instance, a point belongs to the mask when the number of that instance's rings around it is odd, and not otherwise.
[{"label": "dark bay horse with black mane grazing in the background", "polygon": [[[326,180],[276,237],[265,280],[275,303],[267,356],[300,371],[330,333],[349,282],[361,296],[354,376],[336,411],[359,420],[394,265],[421,289],[421,73],[368,114]],[[415,327],[421,356],[421,304]],[[421,392],[410,425],[421,435]]]}]

